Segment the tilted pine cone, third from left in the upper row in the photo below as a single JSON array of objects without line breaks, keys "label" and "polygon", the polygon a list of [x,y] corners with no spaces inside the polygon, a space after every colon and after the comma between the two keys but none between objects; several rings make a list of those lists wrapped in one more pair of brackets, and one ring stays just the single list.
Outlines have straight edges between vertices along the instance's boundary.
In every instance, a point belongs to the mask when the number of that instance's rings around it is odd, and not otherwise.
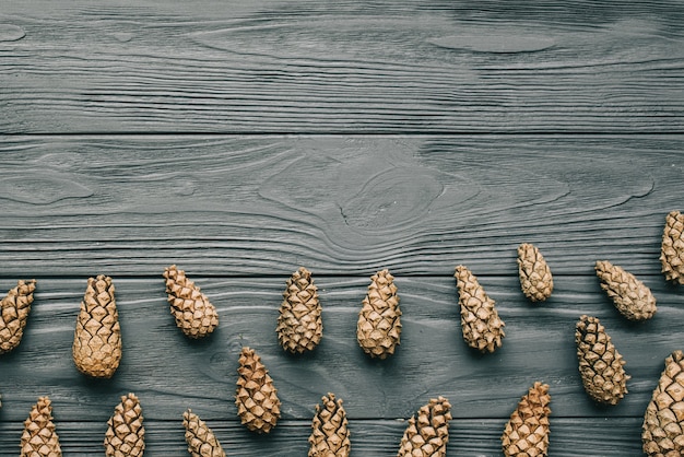
[{"label": "tilted pine cone, third from left in the upper row", "polygon": [[214,331],[219,326],[219,313],[186,272],[172,265],[164,270],[164,278],[172,315],[182,332],[197,339]]}]

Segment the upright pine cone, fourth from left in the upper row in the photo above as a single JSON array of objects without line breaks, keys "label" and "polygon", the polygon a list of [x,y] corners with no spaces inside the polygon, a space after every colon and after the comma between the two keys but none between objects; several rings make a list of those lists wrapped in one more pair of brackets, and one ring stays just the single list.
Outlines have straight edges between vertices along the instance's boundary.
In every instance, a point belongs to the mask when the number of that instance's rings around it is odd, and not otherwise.
[{"label": "upright pine cone, fourth from left in the upper row", "polygon": [[304,267],[287,280],[275,331],[283,349],[292,353],[312,350],[323,335],[317,290],[311,272]]}]

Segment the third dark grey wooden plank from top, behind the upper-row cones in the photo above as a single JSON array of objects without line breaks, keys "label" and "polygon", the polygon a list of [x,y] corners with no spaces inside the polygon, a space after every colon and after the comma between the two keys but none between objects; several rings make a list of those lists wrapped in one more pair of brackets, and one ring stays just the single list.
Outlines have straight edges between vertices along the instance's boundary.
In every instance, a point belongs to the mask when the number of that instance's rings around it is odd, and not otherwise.
[{"label": "third dark grey wooden plank from top, behind the upper-row cones", "polygon": [[[507,418],[528,388],[551,386],[559,418],[640,417],[673,350],[682,349],[684,306],[674,288],[652,281],[657,316],[639,325],[622,317],[590,277],[561,277],[552,298],[533,306],[516,278],[481,283],[506,323],[503,348],[490,355],[462,340],[453,278],[396,279],[401,298],[402,341],[386,361],[367,358],[356,342],[356,320],[368,280],[320,278],[323,340],[310,354],[292,356],[278,343],[275,324],[286,278],[192,278],[220,314],[208,339],[191,341],[175,327],[164,280],[116,279],[125,354],[111,379],[92,380],[71,361],[71,343],[84,279],[42,279],[21,345],[0,359],[2,420],[21,421],[37,397],[49,395],[63,421],[102,421],[121,395],[135,392],[152,420],[177,418],[190,407],[207,420],[236,418],[240,349],[255,348],[270,370],[283,418],[307,419],[320,396],[344,399],[350,418],[408,418],[428,398],[449,398],[461,419]],[[2,279],[3,289],[11,281]],[[629,394],[614,408],[598,408],[577,370],[575,324],[598,316],[632,375]]]}]

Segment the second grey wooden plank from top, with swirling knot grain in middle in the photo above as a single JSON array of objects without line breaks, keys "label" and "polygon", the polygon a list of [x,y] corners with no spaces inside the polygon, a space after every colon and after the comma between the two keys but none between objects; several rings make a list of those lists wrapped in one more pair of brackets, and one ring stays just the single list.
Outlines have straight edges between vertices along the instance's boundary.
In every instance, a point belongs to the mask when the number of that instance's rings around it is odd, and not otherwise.
[{"label": "second grey wooden plank from top, with swirling knot grain in middle", "polygon": [[0,272],[658,276],[682,136],[0,138]]}]

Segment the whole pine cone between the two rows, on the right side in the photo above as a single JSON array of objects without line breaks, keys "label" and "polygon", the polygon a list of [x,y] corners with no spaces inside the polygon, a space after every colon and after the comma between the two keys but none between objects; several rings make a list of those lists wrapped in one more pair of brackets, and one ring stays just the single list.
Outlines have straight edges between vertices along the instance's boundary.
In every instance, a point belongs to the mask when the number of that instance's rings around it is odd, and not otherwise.
[{"label": "whole pine cone between the two rows, on the right side", "polygon": [[627,394],[625,361],[597,317],[582,315],[577,323],[575,342],[579,373],[589,396],[600,403],[617,405]]}]

